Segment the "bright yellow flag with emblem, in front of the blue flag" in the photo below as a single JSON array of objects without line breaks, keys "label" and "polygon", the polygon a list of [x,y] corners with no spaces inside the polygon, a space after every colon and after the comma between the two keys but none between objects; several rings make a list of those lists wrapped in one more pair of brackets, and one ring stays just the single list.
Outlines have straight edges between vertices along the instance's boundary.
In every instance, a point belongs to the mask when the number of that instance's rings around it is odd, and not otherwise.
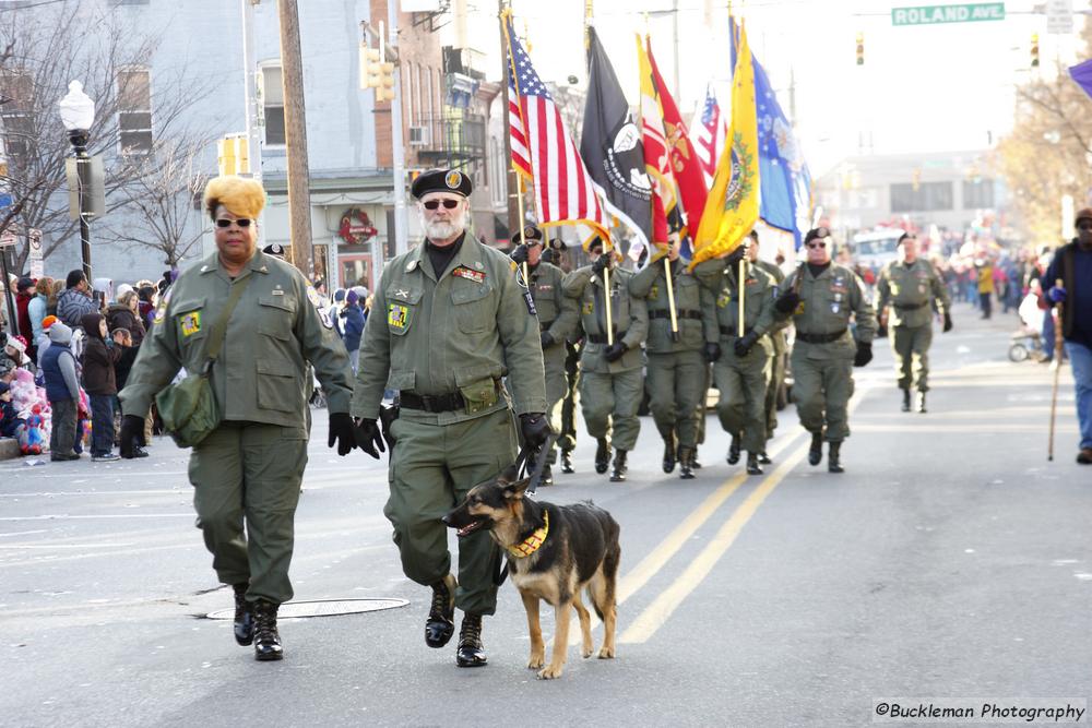
[{"label": "bright yellow flag with emblem, in front of the blue flag", "polygon": [[739,53],[732,74],[732,124],[716,164],[713,187],[695,238],[691,266],[731,253],[758,222],[758,119],[755,72],[747,31],[739,25]]}]

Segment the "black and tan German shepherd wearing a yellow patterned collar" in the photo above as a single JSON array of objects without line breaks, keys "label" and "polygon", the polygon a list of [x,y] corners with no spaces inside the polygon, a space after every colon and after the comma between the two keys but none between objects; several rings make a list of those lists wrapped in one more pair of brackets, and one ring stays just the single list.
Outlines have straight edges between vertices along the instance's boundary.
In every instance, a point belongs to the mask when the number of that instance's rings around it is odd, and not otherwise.
[{"label": "black and tan German shepherd wearing a yellow patterned collar", "polygon": [[[458,528],[459,536],[489,529],[492,539],[508,553],[512,583],[523,597],[531,630],[531,659],[527,667],[539,669],[545,680],[560,678],[569,646],[570,607],[577,608],[583,644],[580,654],[592,654],[591,617],[581,599],[587,597],[603,620],[600,659],[615,655],[615,585],[621,547],[620,529],[610,514],[591,502],[554,505],[523,497],[530,479],[518,480],[509,468],[492,482],[474,487],[466,500],[443,517]],[[538,621],[538,602],[554,606],[556,630],[554,653],[545,665],[546,644]]]}]

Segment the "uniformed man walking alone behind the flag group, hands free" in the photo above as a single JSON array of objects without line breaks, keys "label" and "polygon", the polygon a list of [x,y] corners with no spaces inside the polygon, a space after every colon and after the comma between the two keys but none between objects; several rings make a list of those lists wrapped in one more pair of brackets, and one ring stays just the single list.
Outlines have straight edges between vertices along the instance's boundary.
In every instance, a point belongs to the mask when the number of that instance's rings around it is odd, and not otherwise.
[{"label": "uniformed man walking alone behind the flag group, hands free", "polygon": [[[933,263],[917,255],[917,238],[903,232],[899,238],[900,259],[883,266],[876,282],[876,310],[880,325],[888,325],[891,354],[902,410],[910,411],[911,390],[917,391],[915,407],[924,414],[929,391],[929,346],[933,344],[933,305],[943,314],[947,334],[952,329],[948,286]],[[890,308],[889,308],[890,307]]]}]

